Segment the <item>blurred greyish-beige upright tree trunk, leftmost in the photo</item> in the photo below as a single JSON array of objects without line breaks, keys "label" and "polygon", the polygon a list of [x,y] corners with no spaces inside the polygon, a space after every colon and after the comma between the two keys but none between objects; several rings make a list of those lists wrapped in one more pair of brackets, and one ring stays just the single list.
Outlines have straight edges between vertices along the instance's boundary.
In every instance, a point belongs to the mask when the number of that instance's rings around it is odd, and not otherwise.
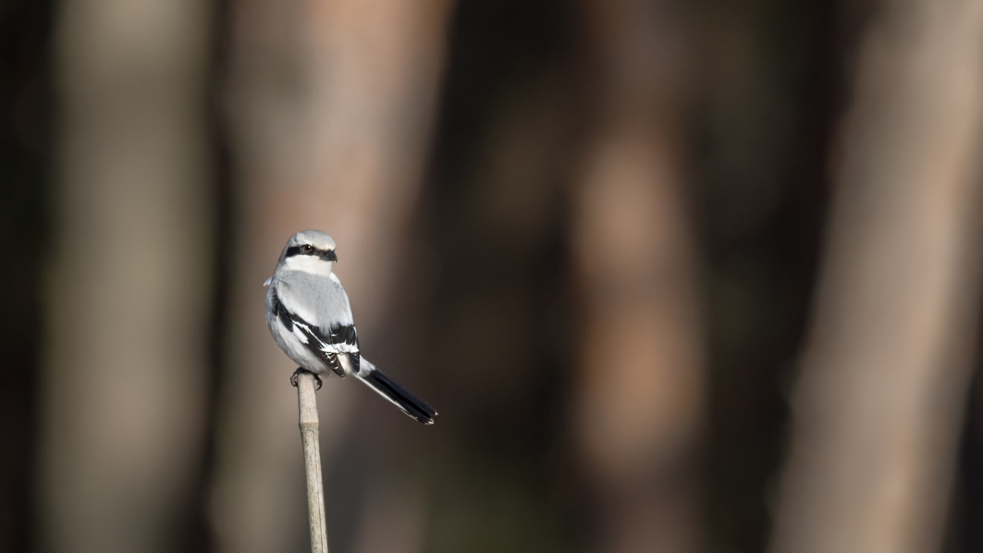
[{"label": "blurred greyish-beige upright tree trunk, leftmost in the photo", "polygon": [[[213,264],[207,3],[61,4],[38,514],[49,551],[182,549]],[[187,528],[184,528],[187,530]]]}]

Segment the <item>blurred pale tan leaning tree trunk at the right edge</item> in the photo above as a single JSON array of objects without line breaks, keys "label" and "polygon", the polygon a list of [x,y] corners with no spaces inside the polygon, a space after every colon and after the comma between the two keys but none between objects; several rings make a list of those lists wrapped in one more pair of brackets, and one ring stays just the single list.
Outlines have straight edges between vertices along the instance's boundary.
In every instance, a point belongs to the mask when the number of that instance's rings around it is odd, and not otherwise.
[{"label": "blurred pale tan leaning tree trunk at the right edge", "polygon": [[983,2],[879,8],[840,137],[776,553],[941,545],[979,299]]}]

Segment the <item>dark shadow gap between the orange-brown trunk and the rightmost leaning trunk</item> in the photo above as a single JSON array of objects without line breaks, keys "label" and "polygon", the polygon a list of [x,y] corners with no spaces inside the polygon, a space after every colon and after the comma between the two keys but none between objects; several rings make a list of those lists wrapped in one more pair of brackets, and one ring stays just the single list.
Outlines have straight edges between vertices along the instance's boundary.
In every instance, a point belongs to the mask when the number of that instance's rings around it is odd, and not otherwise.
[{"label": "dark shadow gap between the orange-brown trunk and the rightmost leaning trunk", "polygon": [[846,83],[834,3],[704,9],[694,164],[709,340],[704,505],[711,550],[750,553],[771,532]]}]

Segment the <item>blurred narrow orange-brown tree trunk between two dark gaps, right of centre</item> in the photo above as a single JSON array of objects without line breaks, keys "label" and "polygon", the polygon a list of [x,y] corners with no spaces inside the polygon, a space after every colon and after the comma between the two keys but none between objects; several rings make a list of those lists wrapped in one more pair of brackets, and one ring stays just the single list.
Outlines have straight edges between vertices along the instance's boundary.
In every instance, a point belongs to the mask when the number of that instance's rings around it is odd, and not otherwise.
[{"label": "blurred narrow orange-brown tree trunk between two dark gaps, right of centre", "polygon": [[688,552],[703,359],[680,118],[685,20],[673,2],[586,5],[595,129],[575,197],[586,326],[578,426],[600,494],[598,550]]}]

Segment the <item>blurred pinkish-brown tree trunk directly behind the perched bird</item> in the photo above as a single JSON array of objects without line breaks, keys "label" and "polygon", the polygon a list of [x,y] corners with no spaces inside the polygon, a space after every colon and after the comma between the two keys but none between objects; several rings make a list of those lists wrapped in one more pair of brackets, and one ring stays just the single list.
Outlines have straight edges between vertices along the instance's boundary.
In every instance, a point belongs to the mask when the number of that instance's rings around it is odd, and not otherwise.
[{"label": "blurred pinkish-brown tree trunk directly behind the perched bird", "polygon": [[[328,232],[372,357],[419,190],[447,9],[445,0],[233,3],[235,269],[210,506],[223,551],[306,547],[295,367],[265,328],[261,283],[292,233]],[[318,393],[325,470],[356,386],[327,381]],[[330,513],[330,489],[325,501]]]}]

